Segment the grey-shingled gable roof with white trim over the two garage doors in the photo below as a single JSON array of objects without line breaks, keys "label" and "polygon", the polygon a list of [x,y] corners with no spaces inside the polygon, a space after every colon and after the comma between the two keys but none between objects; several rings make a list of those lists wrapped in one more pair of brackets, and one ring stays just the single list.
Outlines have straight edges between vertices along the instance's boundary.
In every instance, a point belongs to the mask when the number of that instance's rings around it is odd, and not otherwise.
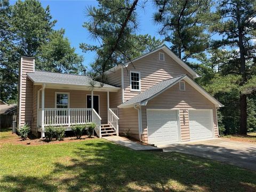
[{"label": "grey-shingled gable roof with white trim over the two garage doors", "polygon": [[177,84],[182,79],[184,79],[191,86],[193,86],[199,93],[203,94],[205,98],[209,99],[212,103],[214,103],[216,107],[223,107],[223,105],[217,99],[212,97],[211,94],[205,91],[201,86],[199,86],[195,81],[193,81],[193,79],[191,79],[188,75],[185,74],[159,82],[158,84],[150,87],[146,91],[136,95],[132,99],[122,103],[118,107],[128,108],[133,107],[135,105],[146,106],[149,100],[153,99],[157,95],[169,89],[171,86]]}]

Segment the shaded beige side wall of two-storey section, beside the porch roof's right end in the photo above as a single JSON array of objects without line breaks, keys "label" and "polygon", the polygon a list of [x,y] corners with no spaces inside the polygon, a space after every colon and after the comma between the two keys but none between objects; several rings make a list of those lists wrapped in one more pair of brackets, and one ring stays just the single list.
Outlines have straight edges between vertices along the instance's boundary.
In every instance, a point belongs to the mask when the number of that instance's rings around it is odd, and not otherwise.
[{"label": "shaded beige side wall of two-storey section, beside the porch roof's right end", "polygon": [[[122,86],[121,78],[122,78],[121,67],[119,67],[116,71],[113,71],[107,75],[106,82],[107,84],[121,87]],[[122,103],[122,89],[119,89],[118,92],[109,92],[110,108],[116,108],[121,103]]]}]

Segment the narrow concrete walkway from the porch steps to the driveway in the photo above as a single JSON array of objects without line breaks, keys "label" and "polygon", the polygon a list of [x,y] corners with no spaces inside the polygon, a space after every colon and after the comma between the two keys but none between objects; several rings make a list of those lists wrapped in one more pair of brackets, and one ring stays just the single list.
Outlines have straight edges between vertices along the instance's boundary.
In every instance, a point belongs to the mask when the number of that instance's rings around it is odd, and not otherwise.
[{"label": "narrow concrete walkway from the porch steps to the driveway", "polygon": [[163,151],[161,148],[153,147],[153,146],[148,146],[148,145],[141,145],[138,142],[131,141],[127,138],[124,137],[119,137],[119,136],[109,136],[109,137],[102,137],[103,139],[106,139],[108,141],[115,142],[119,145],[128,147],[133,150],[138,150],[138,151]]}]

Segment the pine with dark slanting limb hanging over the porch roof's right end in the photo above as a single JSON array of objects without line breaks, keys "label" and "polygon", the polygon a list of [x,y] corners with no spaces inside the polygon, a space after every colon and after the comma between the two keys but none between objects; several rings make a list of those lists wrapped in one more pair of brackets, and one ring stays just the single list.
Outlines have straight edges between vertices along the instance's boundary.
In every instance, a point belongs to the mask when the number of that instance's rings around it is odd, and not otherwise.
[{"label": "pine with dark slanting limb hanging over the porch roof's right end", "polygon": [[[95,75],[102,75],[106,70],[124,61],[138,57],[146,50],[152,50],[162,44],[148,35],[135,35],[138,27],[136,8],[138,0],[98,1],[98,7],[88,7],[89,22],[85,27],[98,45],[81,43],[81,49],[95,51],[97,59],[92,65]],[[143,6],[144,2],[140,4]]]}]

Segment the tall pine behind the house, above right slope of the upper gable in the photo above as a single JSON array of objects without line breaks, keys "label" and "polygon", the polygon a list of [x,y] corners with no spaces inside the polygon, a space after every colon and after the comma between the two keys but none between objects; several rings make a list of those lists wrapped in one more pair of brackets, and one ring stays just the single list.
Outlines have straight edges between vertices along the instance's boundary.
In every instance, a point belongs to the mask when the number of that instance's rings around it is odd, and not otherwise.
[{"label": "tall pine behind the house, above right slope of the upper gable", "polygon": [[155,0],[154,4],[158,9],[154,20],[160,26],[159,34],[172,44],[171,49],[179,58],[186,61],[209,47],[211,0]]}]

